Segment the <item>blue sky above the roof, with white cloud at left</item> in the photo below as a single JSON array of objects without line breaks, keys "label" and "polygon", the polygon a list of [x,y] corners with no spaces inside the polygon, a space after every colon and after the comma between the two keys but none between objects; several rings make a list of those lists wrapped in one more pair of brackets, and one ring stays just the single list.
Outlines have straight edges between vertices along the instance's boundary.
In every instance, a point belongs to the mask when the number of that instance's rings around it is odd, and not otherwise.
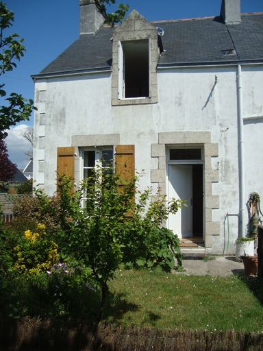
[{"label": "blue sky above the roof, with white cloud at left", "polygon": [[[25,56],[17,62],[17,68],[1,77],[7,93],[20,93],[34,99],[32,74],[39,73],[79,36],[79,0],[7,0],[7,8],[14,12],[14,25],[10,33],[24,38]],[[218,16],[221,0],[127,0],[148,21],[190,19]],[[111,6],[110,10],[114,10]],[[263,12],[262,0],[241,0],[241,12]],[[3,104],[3,101],[1,101]],[[21,133],[33,125],[33,117],[27,123],[12,128],[6,139],[12,162],[23,168],[28,158],[24,151],[30,148]]]}]

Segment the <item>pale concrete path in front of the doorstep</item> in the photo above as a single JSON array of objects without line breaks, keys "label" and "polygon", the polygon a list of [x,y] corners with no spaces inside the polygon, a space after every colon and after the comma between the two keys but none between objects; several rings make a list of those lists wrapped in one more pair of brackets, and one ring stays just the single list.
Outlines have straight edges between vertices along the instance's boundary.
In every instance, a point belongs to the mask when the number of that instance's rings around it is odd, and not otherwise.
[{"label": "pale concrete path in front of the doorstep", "polygon": [[235,256],[211,256],[208,261],[203,257],[184,256],[183,272],[175,274],[190,274],[194,276],[231,276],[231,274],[245,274],[242,262],[237,262]]}]

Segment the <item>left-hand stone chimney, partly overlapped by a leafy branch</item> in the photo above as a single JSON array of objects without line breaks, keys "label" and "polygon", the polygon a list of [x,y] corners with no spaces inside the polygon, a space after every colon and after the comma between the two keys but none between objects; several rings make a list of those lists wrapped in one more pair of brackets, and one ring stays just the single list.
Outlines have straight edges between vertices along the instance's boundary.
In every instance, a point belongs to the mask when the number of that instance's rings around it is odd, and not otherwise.
[{"label": "left-hand stone chimney, partly overlapped by a leafy branch", "polygon": [[95,34],[103,25],[104,17],[98,11],[94,0],[79,0],[79,34]]}]

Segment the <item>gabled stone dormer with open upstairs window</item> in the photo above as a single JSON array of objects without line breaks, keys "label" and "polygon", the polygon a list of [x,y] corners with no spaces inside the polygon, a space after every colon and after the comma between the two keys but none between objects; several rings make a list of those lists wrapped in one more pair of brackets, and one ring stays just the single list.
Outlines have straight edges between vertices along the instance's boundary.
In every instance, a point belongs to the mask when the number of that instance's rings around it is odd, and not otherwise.
[{"label": "gabled stone dormer with open upstairs window", "polygon": [[161,36],[133,10],[112,37],[112,106],[156,104]]}]

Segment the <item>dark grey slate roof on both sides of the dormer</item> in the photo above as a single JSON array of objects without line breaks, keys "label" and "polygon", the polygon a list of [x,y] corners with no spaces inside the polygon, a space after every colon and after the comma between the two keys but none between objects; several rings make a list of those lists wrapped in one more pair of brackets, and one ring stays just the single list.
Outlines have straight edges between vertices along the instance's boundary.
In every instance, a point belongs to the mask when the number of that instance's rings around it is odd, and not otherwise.
[{"label": "dark grey slate roof on both sides of the dormer", "polygon": [[[242,14],[240,25],[226,26],[221,17],[152,22],[164,29],[164,52],[158,66],[263,62],[263,13]],[[110,70],[113,30],[81,35],[38,75]],[[222,51],[235,49],[234,55]]]}]

